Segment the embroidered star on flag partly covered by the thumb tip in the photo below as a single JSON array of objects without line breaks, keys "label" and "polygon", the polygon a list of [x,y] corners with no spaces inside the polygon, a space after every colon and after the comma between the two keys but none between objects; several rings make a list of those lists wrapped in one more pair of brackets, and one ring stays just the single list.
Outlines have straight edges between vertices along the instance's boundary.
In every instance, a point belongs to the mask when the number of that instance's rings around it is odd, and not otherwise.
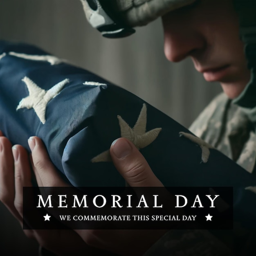
[{"label": "embroidered star on flag partly covered by the thumb tip", "polygon": [[[121,129],[121,137],[129,139],[138,149],[145,148],[151,144],[162,130],[162,128],[155,128],[146,132],[147,108],[145,103],[142,106],[137,122],[133,128],[130,128],[121,116],[118,115],[117,118]],[[111,161],[109,150],[104,151],[91,160],[92,163]]]}]

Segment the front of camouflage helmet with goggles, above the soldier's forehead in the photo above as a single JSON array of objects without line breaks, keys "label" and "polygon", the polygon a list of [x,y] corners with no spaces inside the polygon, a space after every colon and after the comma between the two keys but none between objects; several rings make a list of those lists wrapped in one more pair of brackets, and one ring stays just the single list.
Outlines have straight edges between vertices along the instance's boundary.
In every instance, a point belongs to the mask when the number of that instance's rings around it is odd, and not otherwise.
[{"label": "front of camouflage helmet with goggles, above the soldier's forehead", "polygon": [[108,38],[129,36],[165,13],[200,0],[81,0],[92,27]]}]

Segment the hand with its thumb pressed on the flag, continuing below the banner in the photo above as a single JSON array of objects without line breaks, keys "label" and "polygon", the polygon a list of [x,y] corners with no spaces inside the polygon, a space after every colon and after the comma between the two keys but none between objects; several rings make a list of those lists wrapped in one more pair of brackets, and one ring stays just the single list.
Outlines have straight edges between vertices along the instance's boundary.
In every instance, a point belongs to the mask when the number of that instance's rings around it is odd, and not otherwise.
[{"label": "hand with its thumb pressed on the flag, continuing below the banner", "polygon": [[[125,138],[115,140],[110,147],[115,167],[131,187],[163,187],[139,150]],[[142,255],[167,230],[77,230],[92,246],[119,255]]]}]

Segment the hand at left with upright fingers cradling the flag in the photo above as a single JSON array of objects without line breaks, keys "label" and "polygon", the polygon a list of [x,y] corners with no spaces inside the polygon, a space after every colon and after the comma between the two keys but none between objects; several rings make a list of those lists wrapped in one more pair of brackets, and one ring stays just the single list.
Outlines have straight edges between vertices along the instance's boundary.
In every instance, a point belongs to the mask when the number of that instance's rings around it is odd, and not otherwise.
[{"label": "hand at left with upright fingers cradling the flag", "polygon": [[[32,158],[36,166],[33,165],[33,168],[38,185],[49,184],[49,177],[54,177],[50,183],[52,186],[67,186],[50,162],[42,141],[38,138],[35,141]],[[33,141],[30,142],[30,146],[33,147]],[[20,222],[21,227],[23,227],[23,186],[32,186],[30,164],[25,148],[20,145],[12,147],[10,141],[3,137],[0,131],[0,201]],[[29,225],[29,220],[27,221],[26,224]],[[42,247],[57,255],[109,255],[108,252],[89,247],[73,230],[24,229],[23,231],[27,237],[36,239]]]}]

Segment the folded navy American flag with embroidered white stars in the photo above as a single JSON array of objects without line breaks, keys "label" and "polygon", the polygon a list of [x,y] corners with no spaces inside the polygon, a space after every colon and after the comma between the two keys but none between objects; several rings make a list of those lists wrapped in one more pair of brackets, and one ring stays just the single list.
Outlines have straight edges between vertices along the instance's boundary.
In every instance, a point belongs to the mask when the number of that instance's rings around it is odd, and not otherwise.
[{"label": "folded navy American flag with embroidered white stars", "polygon": [[[37,47],[0,42],[0,129],[27,150],[43,139],[74,186],[124,186],[109,148],[139,148],[165,186],[256,185],[256,177],[134,94]],[[182,137],[180,135],[183,135]]]}]

